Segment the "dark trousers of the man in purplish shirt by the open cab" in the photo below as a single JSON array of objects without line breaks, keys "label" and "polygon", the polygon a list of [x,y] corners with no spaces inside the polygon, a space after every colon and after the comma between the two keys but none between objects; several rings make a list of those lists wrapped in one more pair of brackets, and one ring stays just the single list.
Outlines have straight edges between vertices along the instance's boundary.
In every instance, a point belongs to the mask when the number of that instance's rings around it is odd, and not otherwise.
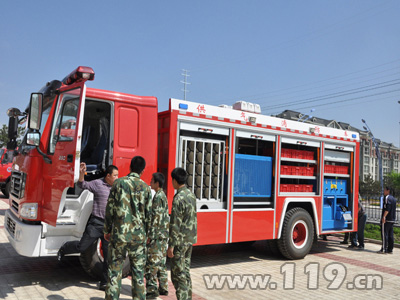
[{"label": "dark trousers of the man in purplish shirt by the open cab", "polygon": [[107,283],[107,257],[108,257],[108,242],[104,239],[104,221],[100,218],[90,216],[88,223],[86,224],[85,232],[82,235],[80,241],[66,242],[61,249],[64,254],[82,253],[85,252],[95,241],[101,239],[101,246],[103,250],[103,273],[100,278],[100,284]]}]

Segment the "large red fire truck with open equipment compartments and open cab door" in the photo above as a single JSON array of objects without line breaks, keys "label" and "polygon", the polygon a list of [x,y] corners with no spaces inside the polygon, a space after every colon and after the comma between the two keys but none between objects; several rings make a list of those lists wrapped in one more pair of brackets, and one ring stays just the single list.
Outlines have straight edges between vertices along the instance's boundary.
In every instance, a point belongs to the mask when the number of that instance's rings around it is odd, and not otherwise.
[{"label": "large red fire truck with open equipment compartments and open cab door", "polygon": [[[55,256],[81,237],[93,195],[76,185],[80,162],[92,180],[109,164],[127,174],[135,155],[146,159],[145,181],[165,174],[169,207],[168,175],[187,170],[197,245],[269,240],[286,258],[300,259],[317,235],[357,228],[357,132],[261,115],[254,105],[170,99],[158,112],[156,98],[86,88],[93,79],[91,68],[78,67],[33,93],[27,111],[8,111],[10,124],[28,122],[5,215],[19,254]],[[84,266],[101,257],[98,249],[81,259]]]}]

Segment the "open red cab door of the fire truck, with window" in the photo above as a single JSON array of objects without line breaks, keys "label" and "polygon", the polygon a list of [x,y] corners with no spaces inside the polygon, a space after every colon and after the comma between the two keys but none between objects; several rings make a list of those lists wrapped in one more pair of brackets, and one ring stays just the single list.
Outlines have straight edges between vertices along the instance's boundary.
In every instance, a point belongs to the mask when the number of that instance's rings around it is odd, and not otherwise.
[{"label": "open red cab door of the fire truck, with window", "polygon": [[77,83],[60,89],[56,102],[47,150],[52,162],[43,164],[41,215],[42,221],[53,226],[64,207],[68,188],[79,178],[85,94],[84,83]]}]

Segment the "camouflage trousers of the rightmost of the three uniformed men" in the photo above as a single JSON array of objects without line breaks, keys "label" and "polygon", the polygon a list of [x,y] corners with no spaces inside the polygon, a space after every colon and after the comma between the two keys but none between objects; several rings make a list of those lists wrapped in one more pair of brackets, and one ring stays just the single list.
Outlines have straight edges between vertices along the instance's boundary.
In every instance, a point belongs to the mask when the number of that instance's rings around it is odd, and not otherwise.
[{"label": "camouflage trousers of the rightmost of the three uniformed men", "polygon": [[175,246],[174,257],[171,258],[171,280],[178,300],[192,299],[192,279],[190,278],[192,248],[192,245]]}]

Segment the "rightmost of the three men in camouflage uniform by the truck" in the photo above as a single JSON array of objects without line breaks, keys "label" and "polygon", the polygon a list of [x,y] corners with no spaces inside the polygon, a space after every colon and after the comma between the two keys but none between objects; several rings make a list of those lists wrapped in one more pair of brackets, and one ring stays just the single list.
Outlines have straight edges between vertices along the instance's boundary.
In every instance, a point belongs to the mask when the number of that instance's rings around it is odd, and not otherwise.
[{"label": "rightmost of the three men in camouflage uniform by the truck", "polygon": [[177,190],[172,202],[169,226],[168,257],[171,258],[171,279],[178,300],[192,299],[190,260],[193,244],[197,242],[196,197],[186,187],[187,172],[175,168],[172,185]]}]

